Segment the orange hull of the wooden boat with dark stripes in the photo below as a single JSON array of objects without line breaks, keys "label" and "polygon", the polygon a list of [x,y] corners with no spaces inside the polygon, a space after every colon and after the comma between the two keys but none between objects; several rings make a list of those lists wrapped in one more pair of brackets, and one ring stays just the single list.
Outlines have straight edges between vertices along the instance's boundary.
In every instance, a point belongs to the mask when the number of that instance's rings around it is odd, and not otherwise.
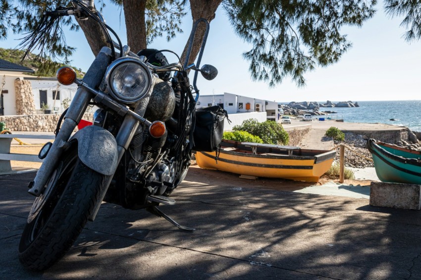
[{"label": "orange hull of the wooden boat with dark stripes", "polygon": [[[301,152],[301,151],[300,151]],[[335,158],[335,151],[312,150],[314,155],[253,154],[247,151],[222,148],[217,161],[214,152],[197,152],[196,162],[201,168],[268,178],[318,182]]]}]

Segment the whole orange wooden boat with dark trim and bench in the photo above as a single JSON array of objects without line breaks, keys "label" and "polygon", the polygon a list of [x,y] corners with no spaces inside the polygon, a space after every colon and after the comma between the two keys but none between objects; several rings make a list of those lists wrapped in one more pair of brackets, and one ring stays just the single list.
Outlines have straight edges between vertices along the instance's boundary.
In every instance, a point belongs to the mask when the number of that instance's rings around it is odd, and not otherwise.
[{"label": "whole orange wooden boat with dark trim and bench", "polygon": [[201,168],[307,182],[318,182],[320,176],[329,170],[336,155],[335,150],[231,140],[222,140],[218,153],[215,160],[215,152],[197,152],[196,162]]}]

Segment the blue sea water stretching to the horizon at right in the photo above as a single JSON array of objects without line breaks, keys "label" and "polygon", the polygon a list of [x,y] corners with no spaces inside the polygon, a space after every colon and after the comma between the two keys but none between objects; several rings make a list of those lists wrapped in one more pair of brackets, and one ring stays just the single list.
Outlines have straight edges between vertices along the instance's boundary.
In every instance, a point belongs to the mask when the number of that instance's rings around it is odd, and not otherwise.
[{"label": "blue sea water stretching to the horizon at right", "polygon": [[335,111],[337,114],[332,116],[344,122],[391,124],[421,132],[421,100],[358,101],[358,104],[360,107],[320,108],[320,111]]}]

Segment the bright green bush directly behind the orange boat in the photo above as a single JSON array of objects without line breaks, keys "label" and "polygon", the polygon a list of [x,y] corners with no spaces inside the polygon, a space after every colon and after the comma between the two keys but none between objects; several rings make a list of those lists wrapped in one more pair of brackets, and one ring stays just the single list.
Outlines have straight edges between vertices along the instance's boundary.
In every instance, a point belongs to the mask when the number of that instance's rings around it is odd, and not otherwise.
[{"label": "bright green bush directly behind the orange boat", "polygon": [[234,126],[234,131],[246,131],[254,136],[259,136],[265,144],[287,145],[289,135],[281,124],[274,121],[259,123],[257,119],[243,121],[240,126]]}]

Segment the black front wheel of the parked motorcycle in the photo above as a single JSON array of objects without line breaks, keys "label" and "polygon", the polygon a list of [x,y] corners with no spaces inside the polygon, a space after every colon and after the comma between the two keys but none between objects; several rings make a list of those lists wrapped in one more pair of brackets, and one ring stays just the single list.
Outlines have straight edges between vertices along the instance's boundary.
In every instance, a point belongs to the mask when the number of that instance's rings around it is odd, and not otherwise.
[{"label": "black front wheel of the parked motorcycle", "polygon": [[73,147],[35,199],[19,243],[19,260],[42,271],[72,246],[97,202],[105,176],[84,165]]}]

